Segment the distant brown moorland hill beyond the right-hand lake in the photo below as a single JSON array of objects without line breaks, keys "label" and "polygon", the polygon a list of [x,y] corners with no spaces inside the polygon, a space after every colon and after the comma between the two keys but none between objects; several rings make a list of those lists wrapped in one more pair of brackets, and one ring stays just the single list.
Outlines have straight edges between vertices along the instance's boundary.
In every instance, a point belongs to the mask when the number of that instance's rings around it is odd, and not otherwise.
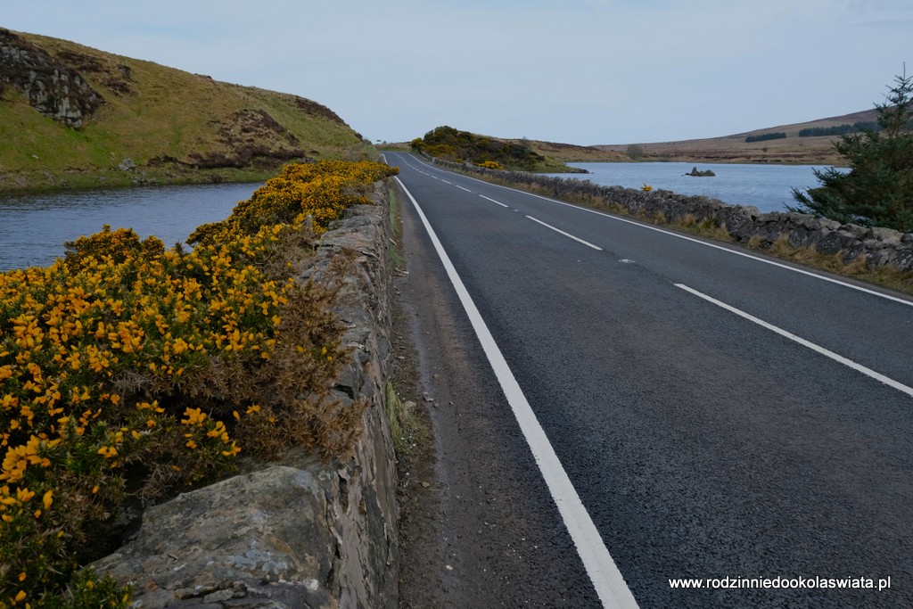
[{"label": "distant brown moorland hill beyond the right-hand lake", "polygon": [[[808,163],[839,164],[834,152],[837,135],[800,137],[800,132],[834,132],[841,126],[871,123],[877,112],[864,110],[817,121],[796,122],[719,138],[593,146],[604,152],[641,154],[643,161],[685,161],[688,163]],[[783,137],[785,136],[785,137]],[[774,137],[776,139],[767,139]],[[755,140],[746,142],[746,140]]]}]

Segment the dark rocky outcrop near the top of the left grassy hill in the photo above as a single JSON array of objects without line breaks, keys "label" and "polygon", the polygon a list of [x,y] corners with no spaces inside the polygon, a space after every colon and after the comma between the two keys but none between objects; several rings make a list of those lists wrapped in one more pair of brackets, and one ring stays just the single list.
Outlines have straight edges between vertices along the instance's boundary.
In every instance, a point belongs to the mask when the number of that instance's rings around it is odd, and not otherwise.
[{"label": "dark rocky outcrop near the top of the left grassy hill", "polygon": [[42,114],[77,129],[104,101],[77,70],[2,28],[0,80],[22,92]]}]

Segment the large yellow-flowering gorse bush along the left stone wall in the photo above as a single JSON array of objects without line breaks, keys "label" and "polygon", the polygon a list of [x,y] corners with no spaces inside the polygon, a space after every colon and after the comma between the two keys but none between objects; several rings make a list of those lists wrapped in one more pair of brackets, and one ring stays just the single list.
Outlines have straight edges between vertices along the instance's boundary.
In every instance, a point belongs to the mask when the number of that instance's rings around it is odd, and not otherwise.
[{"label": "large yellow-flowering gorse bush along the left stone wall", "polygon": [[[0,273],[0,608],[58,598],[131,496],[198,484],[243,449],[347,448],[353,414],[326,399],[344,355],[332,291],[291,261],[393,173],[292,165],[192,251],[105,226]],[[127,603],[75,577],[89,604]]]}]

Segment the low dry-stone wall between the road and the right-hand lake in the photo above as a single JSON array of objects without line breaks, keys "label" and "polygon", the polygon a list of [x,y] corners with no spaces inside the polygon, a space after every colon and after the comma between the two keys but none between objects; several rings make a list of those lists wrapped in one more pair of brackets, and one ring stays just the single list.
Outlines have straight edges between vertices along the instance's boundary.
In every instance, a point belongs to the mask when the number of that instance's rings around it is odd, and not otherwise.
[{"label": "low dry-stone wall between the road and the right-hand lake", "polygon": [[429,157],[437,164],[465,173],[484,173],[499,180],[526,184],[537,192],[569,200],[585,199],[595,205],[624,209],[645,218],[666,222],[723,226],[738,242],[770,247],[785,239],[792,247],[813,247],[827,255],[839,255],[845,263],[863,257],[866,268],[896,268],[913,271],[913,233],[899,233],[882,227],[842,225],[813,215],[792,212],[761,214],[750,205],[727,205],[706,196],[675,194],[667,190],[645,192],[621,186],[603,186],[589,180],[565,180],[525,172],[498,172],[469,163],[449,163]]}]

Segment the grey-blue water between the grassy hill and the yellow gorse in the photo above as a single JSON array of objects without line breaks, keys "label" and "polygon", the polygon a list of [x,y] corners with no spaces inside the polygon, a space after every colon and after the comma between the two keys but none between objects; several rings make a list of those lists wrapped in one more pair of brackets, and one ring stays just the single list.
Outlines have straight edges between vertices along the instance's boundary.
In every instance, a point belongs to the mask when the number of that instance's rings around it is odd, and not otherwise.
[{"label": "grey-blue water between the grassy hill and the yellow gorse", "polygon": [[47,266],[65,241],[103,225],[157,236],[166,247],[194,228],[231,214],[262,184],[143,186],[110,190],[0,196],[0,270]]}]

